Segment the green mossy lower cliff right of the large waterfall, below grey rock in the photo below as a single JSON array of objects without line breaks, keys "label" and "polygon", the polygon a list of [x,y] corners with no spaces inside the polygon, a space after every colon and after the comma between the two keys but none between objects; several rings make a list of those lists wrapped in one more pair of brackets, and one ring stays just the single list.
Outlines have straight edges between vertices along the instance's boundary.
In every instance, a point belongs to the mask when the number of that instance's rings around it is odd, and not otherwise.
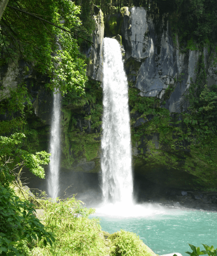
[{"label": "green mossy lower cliff right of the large waterfall, below grey rock", "polygon": [[165,187],[217,190],[217,136],[196,140],[185,113],[170,113],[135,87],[128,94],[135,173]]}]

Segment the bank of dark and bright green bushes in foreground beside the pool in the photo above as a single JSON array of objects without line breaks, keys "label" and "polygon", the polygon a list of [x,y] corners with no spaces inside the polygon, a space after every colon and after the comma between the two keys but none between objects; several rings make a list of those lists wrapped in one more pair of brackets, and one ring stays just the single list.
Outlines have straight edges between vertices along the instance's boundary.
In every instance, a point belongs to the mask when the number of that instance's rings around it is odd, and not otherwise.
[{"label": "bank of dark and bright green bushes in foreground beside the pool", "polygon": [[[16,187],[1,187],[0,199],[1,255],[153,255],[136,234],[102,232],[99,219],[88,217],[94,209],[83,208],[74,197],[52,202]],[[34,207],[44,209],[40,221]]]}]

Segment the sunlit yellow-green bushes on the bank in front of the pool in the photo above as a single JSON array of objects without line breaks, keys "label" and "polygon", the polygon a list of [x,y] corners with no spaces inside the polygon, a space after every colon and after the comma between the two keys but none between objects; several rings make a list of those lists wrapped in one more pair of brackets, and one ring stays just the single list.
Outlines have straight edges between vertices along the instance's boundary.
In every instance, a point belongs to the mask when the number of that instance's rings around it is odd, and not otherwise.
[{"label": "sunlit yellow-green bushes on the bank in front of the pool", "polygon": [[[25,200],[19,190],[16,194]],[[30,199],[28,193],[25,197]],[[24,256],[155,256],[134,233],[102,231],[100,219],[89,218],[95,209],[84,208],[74,196],[56,202],[46,198],[32,200],[36,200],[36,208],[44,209],[41,223],[46,231],[55,234],[55,242],[51,246],[44,240],[29,243],[24,239],[17,245]]]}]

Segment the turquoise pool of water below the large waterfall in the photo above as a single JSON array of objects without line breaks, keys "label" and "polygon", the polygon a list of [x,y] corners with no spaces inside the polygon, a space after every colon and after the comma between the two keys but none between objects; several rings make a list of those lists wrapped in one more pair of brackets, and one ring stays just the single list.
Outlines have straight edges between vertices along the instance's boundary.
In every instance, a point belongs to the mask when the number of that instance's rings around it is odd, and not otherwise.
[{"label": "turquoise pool of water below the large waterfall", "polygon": [[191,251],[188,243],[204,249],[202,244],[217,248],[217,213],[200,210],[166,209],[151,211],[145,217],[121,217],[96,213],[102,230],[120,229],[137,233],[156,254]]}]

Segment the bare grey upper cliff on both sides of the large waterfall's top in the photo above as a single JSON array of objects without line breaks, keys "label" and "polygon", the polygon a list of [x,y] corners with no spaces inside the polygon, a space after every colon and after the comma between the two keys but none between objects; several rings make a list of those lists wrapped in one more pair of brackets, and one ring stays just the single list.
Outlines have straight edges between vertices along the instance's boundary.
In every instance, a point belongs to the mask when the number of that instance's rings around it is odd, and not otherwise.
[{"label": "bare grey upper cliff on both sides of the large waterfall's top", "polygon": [[[140,89],[140,95],[143,97],[158,97],[162,103],[165,101],[161,107],[170,112],[181,113],[187,110],[185,94],[196,79],[195,69],[201,52],[180,52],[179,40],[172,38],[166,15],[148,16],[142,7],[124,7],[121,13],[122,16],[106,16],[105,27],[106,35],[113,35],[121,26],[125,50],[124,66],[129,84]],[[89,73],[92,78],[102,81],[102,45],[99,44],[103,42],[104,30],[99,27],[100,22],[98,17],[98,34],[95,33],[94,36],[98,51],[95,52],[94,66]],[[110,28],[111,24],[113,27]],[[204,48],[203,54],[208,74],[207,85],[211,86],[217,83],[217,68],[213,65],[216,53],[210,54],[210,59],[207,49]],[[165,93],[168,87],[169,94]]]}]

